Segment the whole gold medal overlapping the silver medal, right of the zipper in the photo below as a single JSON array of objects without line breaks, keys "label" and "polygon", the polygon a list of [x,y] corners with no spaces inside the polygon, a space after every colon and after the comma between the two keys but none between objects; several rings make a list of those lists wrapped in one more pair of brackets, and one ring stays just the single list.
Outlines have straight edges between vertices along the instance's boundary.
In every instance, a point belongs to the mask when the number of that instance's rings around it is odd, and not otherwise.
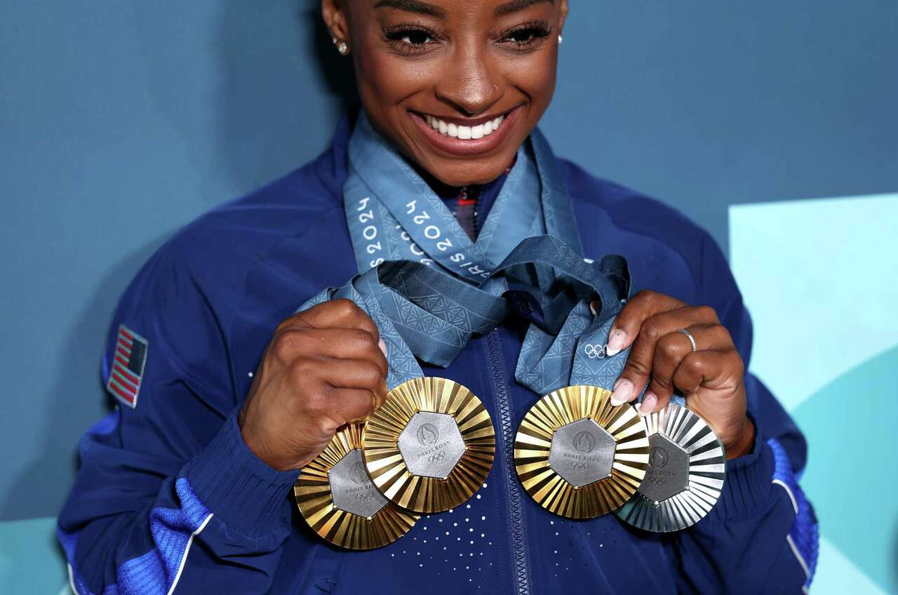
[{"label": "whole gold medal overlapping the silver medal, right of the zipper", "polygon": [[515,469],[542,508],[593,519],[627,502],[648,467],[646,428],[612,391],[567,386],[543,396],[515,437]]}]

